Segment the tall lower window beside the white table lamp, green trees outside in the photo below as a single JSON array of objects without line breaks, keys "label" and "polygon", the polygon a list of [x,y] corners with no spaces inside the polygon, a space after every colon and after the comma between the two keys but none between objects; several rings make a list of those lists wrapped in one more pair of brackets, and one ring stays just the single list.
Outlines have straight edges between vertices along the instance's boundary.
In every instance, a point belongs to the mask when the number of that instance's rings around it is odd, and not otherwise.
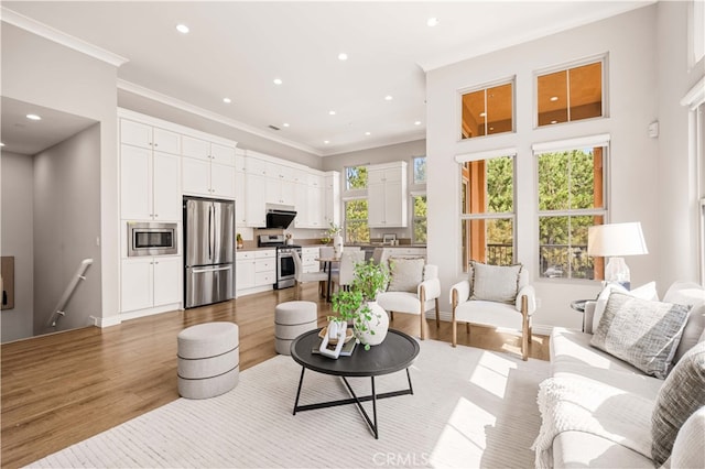
[{"label": "tall lower window beside the white table lamp, green trees outside", "polygon": [[[542,277],[604,279],[604,260],[587,255],[587,230],[606,218],[608,135],[534,145]],[[563,148],[561,148],[563,146]]]}]

